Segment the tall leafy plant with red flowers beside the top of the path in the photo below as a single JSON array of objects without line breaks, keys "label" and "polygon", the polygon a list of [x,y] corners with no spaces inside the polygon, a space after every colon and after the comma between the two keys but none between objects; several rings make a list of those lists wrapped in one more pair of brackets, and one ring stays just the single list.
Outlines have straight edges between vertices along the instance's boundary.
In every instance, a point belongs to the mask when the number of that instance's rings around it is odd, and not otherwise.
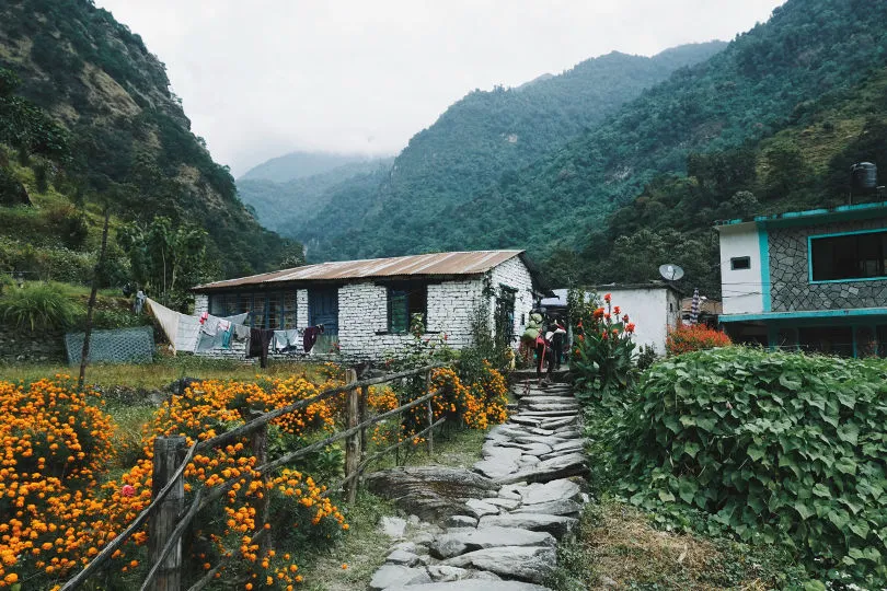
[{"label": "tall leafy plant with red flowers beside the top of the path", "polygon": [[635,343],[634,324],[629,315],[613,305],[610,294],[603,297],[607,308],[598,308],[591,318],[580,321],[571,367],[577,373],[576,396],[607,397],[625,391],[633,383],[636,369],[632,362]]}]

